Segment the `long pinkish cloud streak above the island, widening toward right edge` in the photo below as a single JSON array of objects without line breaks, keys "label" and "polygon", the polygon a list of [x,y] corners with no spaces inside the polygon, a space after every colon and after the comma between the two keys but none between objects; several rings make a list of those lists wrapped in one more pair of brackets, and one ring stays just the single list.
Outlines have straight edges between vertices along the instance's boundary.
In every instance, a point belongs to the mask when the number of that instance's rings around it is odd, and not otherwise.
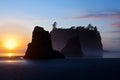
[{"label": "long pinkish cloud streak above the island, widening toward right edge", "polygon": [[81,20],[81,19],[113,19],[120,20],[120,9],[104,10],[104,11],[90,11],[85,15],[62,18],[64,20]]}]

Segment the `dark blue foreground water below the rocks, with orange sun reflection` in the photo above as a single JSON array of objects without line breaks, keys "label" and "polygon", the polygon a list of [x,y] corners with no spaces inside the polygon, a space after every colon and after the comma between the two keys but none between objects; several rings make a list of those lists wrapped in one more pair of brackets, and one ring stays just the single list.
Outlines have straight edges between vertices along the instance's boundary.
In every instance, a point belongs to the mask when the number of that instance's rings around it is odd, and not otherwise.
[{"label": "dark blue foreground water below the rocks, with orange sun reflection", "polygon": [[119,80],[120,58],[0,58],[0,80]]}]

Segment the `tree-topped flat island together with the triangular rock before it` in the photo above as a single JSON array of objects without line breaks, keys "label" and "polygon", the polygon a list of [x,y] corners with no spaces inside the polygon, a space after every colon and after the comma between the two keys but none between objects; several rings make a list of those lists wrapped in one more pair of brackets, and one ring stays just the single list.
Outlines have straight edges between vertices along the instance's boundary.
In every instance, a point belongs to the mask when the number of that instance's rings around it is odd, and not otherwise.
[{"label": "tree-topped flat island together with the triangular rock before it", "polygon": [[78,54],[80,57],[82,55],[84,57],[102,57],[103,45],[100,32],[96,26],[91,24],[88,26],[72,26],[71,28],[57,28],[56,26],[57,23],[54,22],[53,29],[50,32],[53,49],[68,57],[78,57]]}]

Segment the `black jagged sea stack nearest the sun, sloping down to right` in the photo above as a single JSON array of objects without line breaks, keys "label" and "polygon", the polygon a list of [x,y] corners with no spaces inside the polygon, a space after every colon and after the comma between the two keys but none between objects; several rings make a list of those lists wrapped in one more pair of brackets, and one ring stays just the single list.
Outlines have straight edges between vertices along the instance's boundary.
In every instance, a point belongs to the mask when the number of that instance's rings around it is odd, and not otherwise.
[{"label": "black jagged sea stack nearest the sun, sloping down to right", "polygon": [[25,59],[64,58],[59,51],[53,50],[51,35],[42,27],[36,26],[32,35],[32,42],[28,44]]}]

